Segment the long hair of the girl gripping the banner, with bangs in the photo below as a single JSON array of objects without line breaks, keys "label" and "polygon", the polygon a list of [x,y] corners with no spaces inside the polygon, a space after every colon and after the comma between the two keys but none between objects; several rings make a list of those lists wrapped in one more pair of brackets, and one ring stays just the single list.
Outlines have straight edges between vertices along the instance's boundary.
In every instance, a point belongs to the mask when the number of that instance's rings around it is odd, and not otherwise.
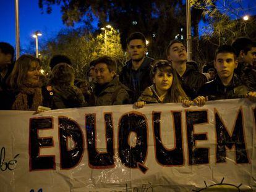
[{"label": "long hair of the girl gripping the banner, with bangs", "polygon": [[151,69],[151,80],[155,77],[157,70],[161,72],[167,72],[173,74],[173,83],[168,90],[168,100],[169,102],[182,102],[184,99],[189,99],[187,94],[182,89],[181,83],[177,77],[176,70],[171,66],[171,62],[167,60],[156,60],[153,62],[153,67]]}]

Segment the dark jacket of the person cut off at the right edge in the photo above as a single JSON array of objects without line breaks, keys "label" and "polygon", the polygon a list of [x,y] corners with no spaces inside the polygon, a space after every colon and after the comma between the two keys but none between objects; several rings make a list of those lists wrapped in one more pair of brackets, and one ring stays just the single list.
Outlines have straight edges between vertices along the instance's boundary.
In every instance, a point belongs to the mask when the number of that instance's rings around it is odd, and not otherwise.
[{"label": "dark jacket of the person cut off at the right edge", "polygon": [[235,69],[235,73],[250,91],[256,91],[256,70],[253,69],[252,65],[241,62]]}]

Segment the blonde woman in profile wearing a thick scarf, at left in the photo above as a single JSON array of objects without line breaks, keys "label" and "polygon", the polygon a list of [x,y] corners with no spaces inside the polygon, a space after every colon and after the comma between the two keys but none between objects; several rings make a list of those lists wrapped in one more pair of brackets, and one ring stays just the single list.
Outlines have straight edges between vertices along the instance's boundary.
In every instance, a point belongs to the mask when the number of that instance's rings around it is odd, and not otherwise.
[{"label": "blonde woman in profile wearing a thick scarf, at left", "polygon": [[23,55],[17,59],[7,80],[10,109],[37,111],[43,100],[40,69],[40,60],[36,57]]}]

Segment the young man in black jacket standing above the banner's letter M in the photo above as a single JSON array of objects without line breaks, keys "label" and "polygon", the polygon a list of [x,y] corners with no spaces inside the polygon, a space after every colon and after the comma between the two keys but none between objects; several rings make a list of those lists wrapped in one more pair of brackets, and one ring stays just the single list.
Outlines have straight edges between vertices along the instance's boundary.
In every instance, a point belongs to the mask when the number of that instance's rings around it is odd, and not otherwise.
[{"label": "young man in black jacket standing above the banner's letter M", "polygon": [[234,73],[237,63],[236,52],[233,47],[229,45],[220,46],[215,52],[216,78],[205,83],[199,90],[198,95],[207,96],[208,100],[248,97],[255,102],[256,92],[249,92],[247,86]]}]

